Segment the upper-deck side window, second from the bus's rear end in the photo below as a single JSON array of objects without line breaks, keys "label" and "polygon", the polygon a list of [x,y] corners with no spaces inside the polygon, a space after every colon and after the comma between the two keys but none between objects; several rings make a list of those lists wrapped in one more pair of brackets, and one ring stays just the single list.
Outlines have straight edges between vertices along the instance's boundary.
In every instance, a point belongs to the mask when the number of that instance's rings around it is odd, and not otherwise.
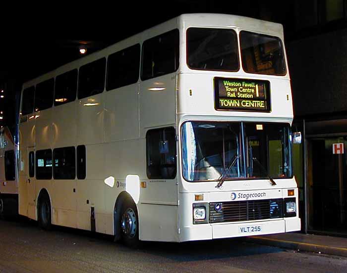
[{"label": "upper-deck side window, second from the bus's rear end", "polygon": [[36,85],[35,111],[45,110],[53,105],[54,79]]}]

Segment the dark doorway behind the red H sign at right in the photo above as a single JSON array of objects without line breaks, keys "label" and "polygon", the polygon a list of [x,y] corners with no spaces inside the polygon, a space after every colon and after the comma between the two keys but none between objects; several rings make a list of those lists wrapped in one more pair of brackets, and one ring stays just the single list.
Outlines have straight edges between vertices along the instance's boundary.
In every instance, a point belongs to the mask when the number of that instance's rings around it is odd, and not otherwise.
[{"label": "dark doorway behind the red H sign at right", "polygon": [[[344,153],[334,154],[333,144]],[[307,141],[308,230],[347,235],[347,137]]]}]

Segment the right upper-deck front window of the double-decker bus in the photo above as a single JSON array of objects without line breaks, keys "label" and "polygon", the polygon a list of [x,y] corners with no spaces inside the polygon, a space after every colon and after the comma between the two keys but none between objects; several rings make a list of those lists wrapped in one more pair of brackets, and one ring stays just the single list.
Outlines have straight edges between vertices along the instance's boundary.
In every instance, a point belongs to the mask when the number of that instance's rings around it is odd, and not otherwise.
[{"label": "right upper-deck front window of the double-decker bus", "polygon": [[242,67],[245,72],[286,75],[286,62],[279,38],[241,31],[240,45]]}]

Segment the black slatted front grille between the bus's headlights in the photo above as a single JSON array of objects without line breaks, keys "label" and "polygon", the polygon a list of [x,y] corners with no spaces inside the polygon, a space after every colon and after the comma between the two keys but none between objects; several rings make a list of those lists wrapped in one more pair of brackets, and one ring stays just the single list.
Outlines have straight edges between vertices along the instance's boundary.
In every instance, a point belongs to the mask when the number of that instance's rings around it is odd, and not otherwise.
[{"label": "black slatted front grille between the bus's headlights", "polygon": [[210,203],[210,223],[282,218],[282,204],[282,198]]}]

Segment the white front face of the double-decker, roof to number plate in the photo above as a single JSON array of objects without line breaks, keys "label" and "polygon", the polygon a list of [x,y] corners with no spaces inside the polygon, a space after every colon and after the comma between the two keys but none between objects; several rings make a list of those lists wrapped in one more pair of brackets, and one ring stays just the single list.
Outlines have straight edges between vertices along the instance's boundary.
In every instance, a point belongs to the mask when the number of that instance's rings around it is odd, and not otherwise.
[{"label": "white front face of the double-decker, roof to number plate", "polygon": [[185,19],[179,240],[300,230],[282,26],[228,15]]}]

